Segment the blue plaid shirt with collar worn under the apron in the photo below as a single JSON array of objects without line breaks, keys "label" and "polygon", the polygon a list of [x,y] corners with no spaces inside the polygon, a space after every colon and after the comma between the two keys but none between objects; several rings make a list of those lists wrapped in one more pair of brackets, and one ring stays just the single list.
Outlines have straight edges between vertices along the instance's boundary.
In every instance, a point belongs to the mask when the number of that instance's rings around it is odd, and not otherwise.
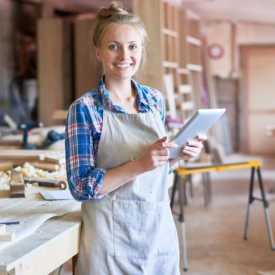
[{"label": "blue plaid shirt with collar worn under the apron", "polygon": [[[138,111],[147,113],[151,111],[150,106],[155,105],[164,122],[163,94],[151,87],[139,85],[135,80],[131,80],[131,85],[137,93]],[[69,189],[77,201],[104,196],[97,194],[106,170],[96,168],[95,162],[106,104],[115,113],[126,113],[113,104],[101,79],[96,89],[87,92],[69,107],[65,130],[66,168]]]}]

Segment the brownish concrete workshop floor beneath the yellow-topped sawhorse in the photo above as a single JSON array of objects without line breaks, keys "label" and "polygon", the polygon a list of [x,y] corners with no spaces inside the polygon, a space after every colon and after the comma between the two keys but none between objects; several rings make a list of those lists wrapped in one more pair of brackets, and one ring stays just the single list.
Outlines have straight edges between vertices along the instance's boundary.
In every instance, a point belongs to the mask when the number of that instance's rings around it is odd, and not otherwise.
[{"label": "brownish concrete workshop floor beneath the yellow-topped sawhorse", "polygon": [[[259,159],[263,162],[263,184],[270,203],[270,222],[275,229],[275,156],[245,159]],[[243,161],[243,156],[233,156],[232,161]],[[184,208],[188,270],[183,271],[181,254],[181,274],[274,275],[275,251],[271,250],[261,201],[252,203],[248,239],[243,239],[250,169],[213,172],[210,178],[212,203],[204,206],[203,188],[201,184],[195,184],[193,196],[188,195],[188,205]],[[260,195],[258,181],[255,181],[254,190],[255,196]],[[176,199],[174,210],[177,211],[178,206]],[[181,247],[181,228],[176,215],[175,224]],[[61,275],[72,275],[70,262],[63,265]]]}]

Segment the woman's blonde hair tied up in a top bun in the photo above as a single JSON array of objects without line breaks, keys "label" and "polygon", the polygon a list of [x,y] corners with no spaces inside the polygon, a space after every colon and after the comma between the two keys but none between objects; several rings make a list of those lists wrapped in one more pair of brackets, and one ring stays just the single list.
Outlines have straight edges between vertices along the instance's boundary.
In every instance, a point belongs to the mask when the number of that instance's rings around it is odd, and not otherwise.
[{"label": "woman's blonde hair tied up in a top bun", "polygon": [[[146,63],[146,45],[148,43],[148,35],[144,24],[137,15],[127,12],[122,3],[113,1],[109,8],[101,8],[96,15],[96,23],[92,31],[92,39],[94,47],[100,47],[101,39],[107,28],[114,24],[126,23],[133,25],[140,33],[142,38],[142,60],[140,61],[140,68],[143,69]],[[96,58],[97,59],[97,58]],[[103,67],[98,61],[98,78],[103,74]]]}]

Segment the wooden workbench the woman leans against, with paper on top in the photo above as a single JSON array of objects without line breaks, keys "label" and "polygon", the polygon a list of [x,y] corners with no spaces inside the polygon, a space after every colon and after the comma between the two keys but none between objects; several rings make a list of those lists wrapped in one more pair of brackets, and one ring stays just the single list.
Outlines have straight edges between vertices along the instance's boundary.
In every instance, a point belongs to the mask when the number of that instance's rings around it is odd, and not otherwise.
[{"label": "wooden workbench the woman leans against, with paper on top", "polygon": [[[44,201],[38,192],[39,189],[39,187],[27,188],[26,198],[20,199],[9,199],[6,197],[7,190],[1,190],[1,197],[5,197],[0,199],[0,204],[3,205],[0,211],[1,220],[4,217],[10,221],[10,217],[18,211],[20,205],[23,208],[31,204],[30,210],[22,211],[23,220],[26,221],[25,225],[21,225],[22,228],[36,221],[36,217],[40,214],[45,221],[30,234],[18,240],[15,239],[8,245],[3,246],[3,243],[0,243],[2,245],[0,246],[0,275],[47,275],[78,254],[82,223],[80,203],[79,207],[71,207],[71,203],[75,204],[76,201],[67,201],[67,204],[65,201]],[[7,206],[10,202],[11,204]],[[32,212],[36,205],[37,208]],[[65,214],[59,209],[64,205]],[[56,212],[54,212],[55,209]],[[29,219],[27,214],[32,214],[33,217]],[[49,219],[47,219],[48,216]],[[15,228],[20,225],[6,225],[6,228],[12,228],[12,226]],[[17,227],[16,233],[20,236],[20,228],[18,230]]]}]

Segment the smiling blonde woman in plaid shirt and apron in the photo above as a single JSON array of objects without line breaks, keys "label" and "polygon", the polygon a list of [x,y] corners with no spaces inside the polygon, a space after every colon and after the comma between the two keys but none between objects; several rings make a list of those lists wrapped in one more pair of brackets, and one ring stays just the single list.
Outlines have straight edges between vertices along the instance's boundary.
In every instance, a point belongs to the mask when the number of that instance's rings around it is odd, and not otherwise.
[{"label": "smiling blonde woman in plaid shirt and apron", "polygon": [[[78,98],[66,125],[67,179],[83,201],[78,275],[179,275],[177,230],[170,210],[164,96],[133,76],[148,41],[139,17],[113,2],[94,29],[102,67],[98,87]],[[202,135],[181,148],[197,157]]]}]

